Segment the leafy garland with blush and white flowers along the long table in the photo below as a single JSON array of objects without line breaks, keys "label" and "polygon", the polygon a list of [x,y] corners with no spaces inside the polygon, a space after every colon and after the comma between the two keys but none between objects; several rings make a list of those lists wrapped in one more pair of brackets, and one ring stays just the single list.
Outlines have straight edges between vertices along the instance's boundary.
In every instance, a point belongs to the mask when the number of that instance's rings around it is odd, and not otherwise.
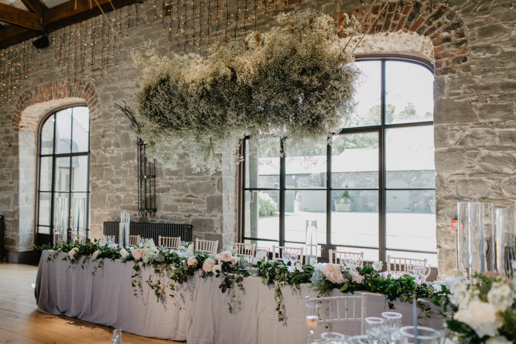
[{"label": "leafy garland with blush and white flowers along the long table", "polygon": [[[215,276],[216,279],[221,281],[220,291],[231,293],[228,303],[230,313],[233,312],[236,303],[235,291],[237,289],[244,290],[242,282],[246,277],[249,277],[247,270],[238,269],[238,264],[236,264],[238,258],[231,256],[229,252],[221,252],[219,255],[193,252],[193,250],[176,252],[155,247],[152,242],[137,245],[130,252],[127,252],[124,249],[119,250],[109,247],[109,245],[100,244],[96,240],[85,244],[67,242],[60,247],[42,245],[36,247],[36,249],[52,252],[47,256],[47,261],[57,257],[59,252],[67,253],[62,260],[69,260],[70,266],[80,262],[83,269],[84,264],[91,260],[96,264],[92,271],[93,275],[98,268],[103,266],[103,260],[106,258],[111,260],[118,258],[123,263],[133,263],[131,283],[135,297],[138,297],[142,288],[141,269],[150,268],[153,273],[150,274],[146,283],[154,291],[156,302],[166,300],[167,287],[171,290],[168,296],[175,298],[175,286],[187,282],[197,272],[200,272],[199,277],[203,279]],[[224,254],[225,258],[222,257]],[[289,272],[287,266],[279,260],[259,260],[253,267],[257,268],[262,283],[275,285],[278,321],[284,321],[285,319],[281,287],[293,286],[295,290],[299,290],[300,284],[303,283],[311,283],[313,288],[318,291],[319,297],[326,295],[332,289],[338,289],[344,293],[354,293],[356,291],[380,293],[385,296],[389,308],[394,308],[393,302],[396,299],[402,302],[412,302],[412,296],[415,294],[417,307],[427,317],[430,317],[428,302],[439,306],[449,305],[449,289],[445,286],[435,289],[428,284],[416,284],[413,277],[400,277],[399,279],[384,277],[378,273],[377,263],[373,266],[365,265],[364,267],[344,271],[341,271],[340,267],[334,264],[317,263],[314,265],[298,264],[294,271]],[[335,268],[336,275],[327,275],[327,270],[331,271],[327,268]],[[334,277],[337,277],[338,280],[335,280]]]}]

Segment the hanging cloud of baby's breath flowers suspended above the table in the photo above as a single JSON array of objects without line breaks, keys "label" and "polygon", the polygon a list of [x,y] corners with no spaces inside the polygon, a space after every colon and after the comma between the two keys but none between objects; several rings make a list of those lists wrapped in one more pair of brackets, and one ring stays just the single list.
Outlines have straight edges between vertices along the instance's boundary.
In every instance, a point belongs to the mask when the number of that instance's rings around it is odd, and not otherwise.
[{"label": "hanging cloud of baby's breath flowers suspended above the table", "polygon": [[[208,57],[135,51],[143,80],[132,108],[149,155],[176,168],[188,153],[196,171],[220,170],[239,140],[288,138],[289,148],[326,140],[353,105],[358,70],[348,38],[359,26],[329,15],[278,15],[279,26],[244,42],[212,46]],[[353,33],[351,33],[353,32]],[[238,158],[238,156],[236,157]]]}]

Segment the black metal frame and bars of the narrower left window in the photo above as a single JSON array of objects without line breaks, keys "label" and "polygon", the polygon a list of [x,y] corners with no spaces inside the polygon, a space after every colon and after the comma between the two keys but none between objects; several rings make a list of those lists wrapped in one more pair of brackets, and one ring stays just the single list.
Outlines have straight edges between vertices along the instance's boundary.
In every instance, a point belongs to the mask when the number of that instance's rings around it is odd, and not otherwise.
[{"label": "black metal frame and bars of the narrower left window", "polygon": [[[68,234],[67,237],[70,240],[71,238],[71,228],[70,228],[70,221],[71,221],[71,215],[72,215],[72,194],[73,193],[82,193],[86,194],[86,212],[85,212],[85,222],[86,222],[86,240],[88,240],[91,235],[90,231],[90,135],[89,135],[89,129],[91,121],[88,116],[88,149],[86,152],[75,152],[73,153],[73,109],[77,107],[85,107],[88,108],[85,104],[74,104],[74,105],[67,105],[64,107],[60,107],[57,109],[52,110],[49,114],[47,114],[43,120],[40,122],[37,132],[37,140],[38,140],[38,147],[37,147],[37,159],[38,159],[38,167],[37,167],[37,177],[36,177],[36,221],[35,221],[35,234],[36,234],[36,242],[37,244],[44,244],[44,243],[52,243],[53,242],[53,235],[54,235],[54,207],[55,207],[55,194],[56,193],[68,193]],[[56,126],[57,126],[57,120],[56,120],[56,114],[59,111],[62,110],[71,110],[71,116],[72,120],[70,121],[70,153],[56,153],[56,150],[59,146],[59,142],[56,142]],[[89,111],[89,109],[88,109]],[[42,149],[42,143],[41,143],[41,134],[44,124],[47,121],[50,121],[51,119],[54,119],[54,128],[53,128],[53,148],[52,153],[50,154],[41,154]],[[86,177],[86,191],[72,191],[72,159],[74,157],[79,156],[86,156],[87,157],[87,177]],[[51,190],[41,190],[41,159],[45,157],[51,157],[52,158],[52,187]],[[55,190],[55,183],[56,183],[56,162],[59,158],[69,158],[69,169],[70,169],[70,177],[69,177],[69,185],[68,185],[68,191],[56,191]],[[39,223],[39,211],[40,211],[40,195],[42,193],[50,194],[51,195],[51,204],[50,204],[50,225],[42,225]],[[50,234],[40,233],[39,228],[45,227],[50,228]]]}]

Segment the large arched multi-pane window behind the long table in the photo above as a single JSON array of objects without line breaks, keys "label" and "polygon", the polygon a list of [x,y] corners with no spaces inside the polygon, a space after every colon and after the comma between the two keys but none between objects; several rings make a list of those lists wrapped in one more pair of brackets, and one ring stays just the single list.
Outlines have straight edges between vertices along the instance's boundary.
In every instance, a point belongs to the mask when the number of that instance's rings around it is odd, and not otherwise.
[{"label": "large arched multi-pane window behind the long table", "polygon": [[356,112],[331,145],[280,157],[280,142],[272,154],[244,140],[244,241],[304,247],[312,220],[321,257],[337,249],[364,252],[367,260],[427,258],[437,266],[433,72],[401,59],[357,65],[363,78]]}]

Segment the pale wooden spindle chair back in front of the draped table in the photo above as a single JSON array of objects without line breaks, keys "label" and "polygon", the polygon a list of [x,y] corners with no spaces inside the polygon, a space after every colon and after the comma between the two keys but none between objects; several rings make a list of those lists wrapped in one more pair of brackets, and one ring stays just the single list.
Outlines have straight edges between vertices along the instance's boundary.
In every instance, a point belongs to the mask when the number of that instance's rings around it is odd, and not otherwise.
[{"label": "pale wooden spindle chair back in front of the draped table", "polygon": [[[305,297],[305,303],[319,304],[319,323],[325,323],[332,330],[335,322],[360,322],[360,334],[364,334],[364,319],[367,317],[367,294],[332,296],[325,298]],[[357,326],[353,326],[356,328]],[[356,335],[357,333],[345,333]]]}]

